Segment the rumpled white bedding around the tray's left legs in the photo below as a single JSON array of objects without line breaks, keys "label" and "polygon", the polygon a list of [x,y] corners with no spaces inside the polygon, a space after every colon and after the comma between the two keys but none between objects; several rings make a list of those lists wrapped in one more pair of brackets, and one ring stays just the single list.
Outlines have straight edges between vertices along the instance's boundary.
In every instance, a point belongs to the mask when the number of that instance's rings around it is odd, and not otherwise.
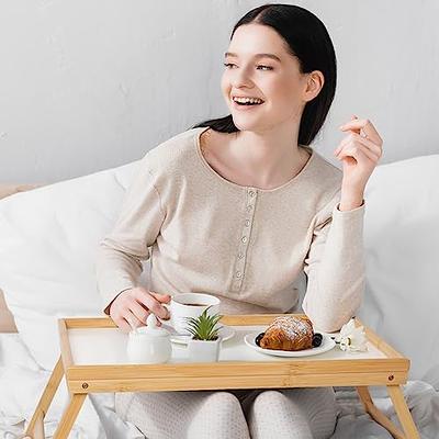
[{"label": "rumpled white bedding around the tray's left legs", "polygon": [[[30,423],[50,376],[32,359],[18,334],[0,335],[0,438],[19,439]],[[68,392],[63,379],[45,416],[46,438],[59,423]],[[114,393],[86,398],[69,439],[140,439],[138,429],[114,412]]]}]

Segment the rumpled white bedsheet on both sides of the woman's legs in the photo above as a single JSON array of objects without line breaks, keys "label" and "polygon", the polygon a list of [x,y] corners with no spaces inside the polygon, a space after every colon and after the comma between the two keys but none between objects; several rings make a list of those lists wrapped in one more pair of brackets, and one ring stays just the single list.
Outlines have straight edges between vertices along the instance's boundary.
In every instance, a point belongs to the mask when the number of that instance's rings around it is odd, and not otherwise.
[{"label": "rumpled white bedsheet on both sides of the woman's legs", "polygon": [[[0,438],[18,439],[30,421],[49,372],[32,359],[16,334],[0,335]],[[436,386],[436,389],[435,389]],[[407,405],[421,439],[439,439],[439,392],[437,385],[409,381],[404,386]],[[333,439],[378,438],[391,435],[364,413],[352,387],[336,387],[340,417]],[[384,387],[370,387],[375,405],[396,425],[397,417]],[[50,438],[67,401],[63,380],[45,418],[46,437]],[[78,415],[69,439],[140,439],[144,436],[114,413],[114,394],[90,395]]]}]

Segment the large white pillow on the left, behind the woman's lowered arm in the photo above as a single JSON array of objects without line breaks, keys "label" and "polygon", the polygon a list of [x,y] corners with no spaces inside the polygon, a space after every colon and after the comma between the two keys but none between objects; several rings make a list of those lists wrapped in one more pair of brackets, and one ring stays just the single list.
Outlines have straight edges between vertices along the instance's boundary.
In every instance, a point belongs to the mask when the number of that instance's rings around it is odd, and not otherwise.
[{"label": "large white pillow on the left, behind the woman's lowered arm", "polygon": [[44,369],[53,369],[59,354],[58,317],[103,315],[95,254],[138,165],[0,201],[0,288],[20,336]]}]

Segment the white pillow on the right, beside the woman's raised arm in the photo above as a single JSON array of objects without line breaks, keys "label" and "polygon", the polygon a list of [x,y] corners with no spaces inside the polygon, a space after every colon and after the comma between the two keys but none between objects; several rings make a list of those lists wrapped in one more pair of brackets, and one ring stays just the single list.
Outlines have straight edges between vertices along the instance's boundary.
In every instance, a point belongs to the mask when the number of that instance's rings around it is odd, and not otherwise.
[{"label": "white pillow on the right, beside the woman's raised arm", "polygon": [[439,380],[439,155],[376,167],[364,194],[367,286],[358,316]]}]

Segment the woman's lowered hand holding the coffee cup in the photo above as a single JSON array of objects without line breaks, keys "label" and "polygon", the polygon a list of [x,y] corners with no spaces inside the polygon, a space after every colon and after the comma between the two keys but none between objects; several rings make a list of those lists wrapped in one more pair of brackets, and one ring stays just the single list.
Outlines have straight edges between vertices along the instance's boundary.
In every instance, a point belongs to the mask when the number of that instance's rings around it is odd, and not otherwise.
[{"label": "woman's lowered hand holding the coffee cup", "polygon": [[[155,293],[143,286],[124,290],[112,302],[110,317],[124,333],[130,333],[139,326],[146,326],[146,318],[151,313],[168,320],[170,313],[162,303],[169,303],[170,300],[169,294]],[[157,325],[161,325],[159,319]]]}]

